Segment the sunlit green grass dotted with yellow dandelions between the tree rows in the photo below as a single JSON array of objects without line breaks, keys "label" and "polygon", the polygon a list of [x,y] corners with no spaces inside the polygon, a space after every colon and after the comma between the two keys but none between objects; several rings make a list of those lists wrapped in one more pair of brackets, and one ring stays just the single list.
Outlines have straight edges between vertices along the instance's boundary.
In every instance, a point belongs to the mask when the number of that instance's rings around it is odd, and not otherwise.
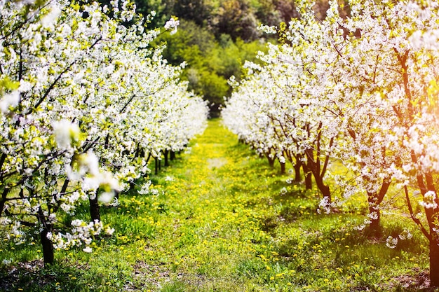
[{"label": "sunlit green grass dotted with yellow dandelions between the tree rows", "polygon": [[[57,263],[43,268],[37,241],[2,242],[0,260],[12,262],[0,264],[0,288],[417,291],[425,284],[428,244],[410,218],[384,214],[382,237],[368,237],[356,229],[364,198],[318,214],[316,190],[286,183],[287,175],[238,144],[219,120],[151,179],[156,193],[133,190],[119,207],[102,208],[102,221],[116,232],[96,239],[91,254],[57,251]],[[389,249],[386,237],[407,228],[414,236]]]}]

